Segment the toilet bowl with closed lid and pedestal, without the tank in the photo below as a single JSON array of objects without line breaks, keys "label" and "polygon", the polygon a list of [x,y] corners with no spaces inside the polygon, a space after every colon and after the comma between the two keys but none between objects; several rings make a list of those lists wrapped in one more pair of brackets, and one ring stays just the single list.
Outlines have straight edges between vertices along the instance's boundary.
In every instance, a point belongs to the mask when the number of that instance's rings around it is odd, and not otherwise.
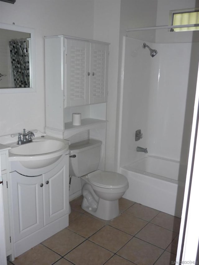
[{"label": "toilet bowl with closed lid and pedestal, without the tank", "polygon": [[82,187],[81,208],[104,220],[117,217],[118,199],[129,187],[127,178],[115,172],[101,170],[81,178],[86,182]]}]

